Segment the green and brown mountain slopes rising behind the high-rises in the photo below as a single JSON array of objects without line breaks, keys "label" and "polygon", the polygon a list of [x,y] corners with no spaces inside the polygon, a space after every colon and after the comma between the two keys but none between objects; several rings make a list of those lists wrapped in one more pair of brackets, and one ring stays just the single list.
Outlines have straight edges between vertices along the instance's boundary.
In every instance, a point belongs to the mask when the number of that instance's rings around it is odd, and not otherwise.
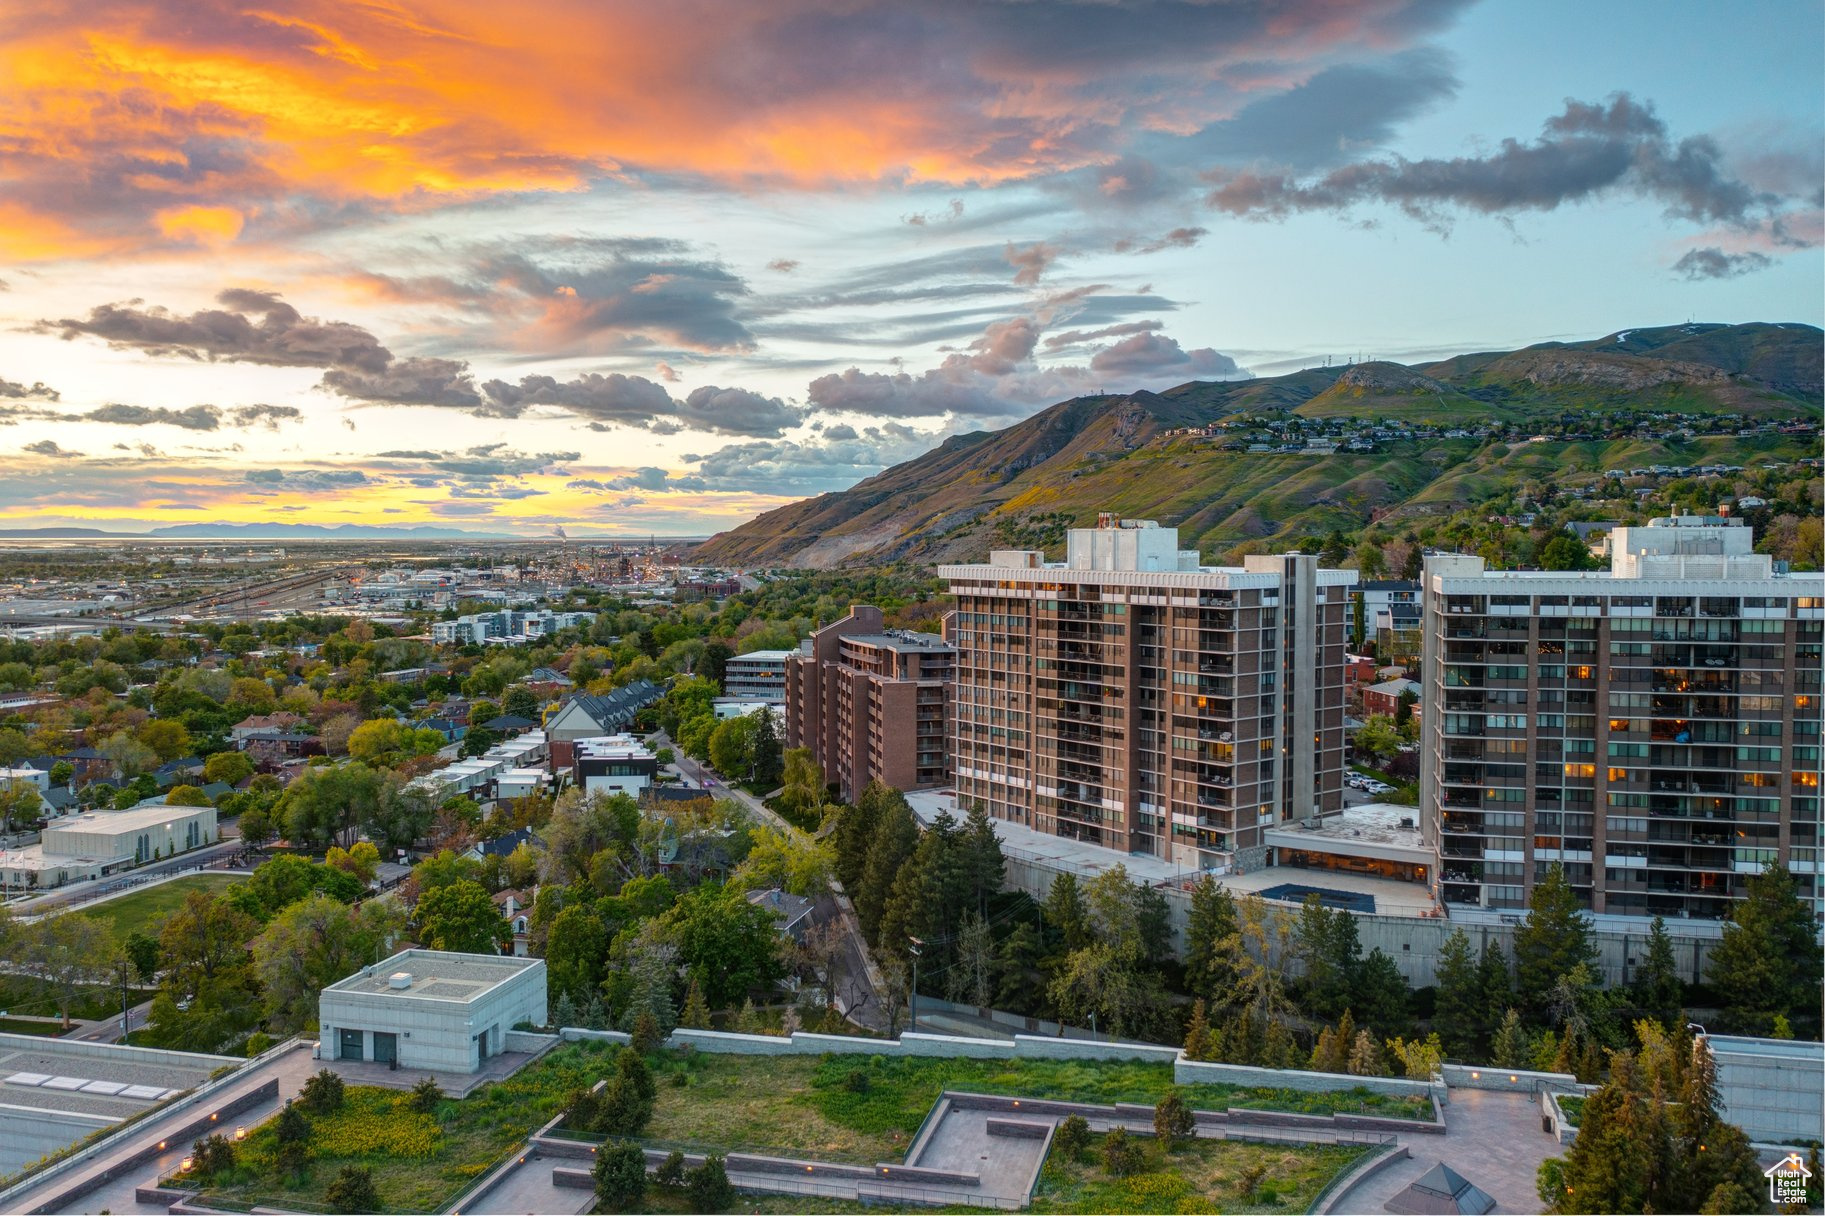
[{"label": "green and brown mountain slopes rising behind the high-rises", "polygon": [[[1183,544],[1208,555],[1248,540],[1349,531],[1391,513],[1451,511],[1529,478],[1818,455],[1816,436],[1726,429],[1684,438],[1668,416],[1816,422],[1821,336],[1798,323],[1688,323],[1411,367],[1309,367],[1080,396],[1002,431],[947,438],[850,489],[759,515],[712,537],[697,559],[799,568],[975,561],[991,548],[1057,544],[1064,526],[1097,511],[1177,526]],[[1234,451],[1221,431],[1188,433],[1298,420],[1345,420],[1345,431],[1400,422],[1425,433],[1323,456]],[[1551,435],[1475,435],[1491,425]]]}]

